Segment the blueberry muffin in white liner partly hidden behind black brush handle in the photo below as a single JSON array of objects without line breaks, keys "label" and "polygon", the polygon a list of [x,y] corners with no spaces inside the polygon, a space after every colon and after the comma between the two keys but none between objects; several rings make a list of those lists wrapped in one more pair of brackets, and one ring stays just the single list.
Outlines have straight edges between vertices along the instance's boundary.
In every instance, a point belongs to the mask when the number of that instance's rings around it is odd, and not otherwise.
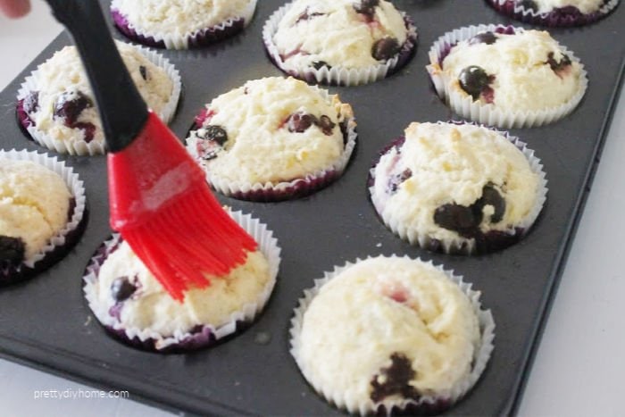
[{"label": "blueberry muffin in white liner partly hidden behind black brush handle", "polygon": [[[180,79],[171,63],[144,48],[117,43],[146,104],[170,121]],[[104,130],[96,99],[75,46],[65,46],[22,84],[18,118],[40,145],[63,154],[102,154]]]}]

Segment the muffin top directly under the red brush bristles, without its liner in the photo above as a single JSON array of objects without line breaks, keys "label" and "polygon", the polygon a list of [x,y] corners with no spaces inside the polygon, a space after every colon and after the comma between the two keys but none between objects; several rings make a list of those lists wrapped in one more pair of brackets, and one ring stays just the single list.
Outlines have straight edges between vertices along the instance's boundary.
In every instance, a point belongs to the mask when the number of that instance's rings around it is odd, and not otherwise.
[{"label": "muffin top directly under the red brush bristles, without its liner", "polygon": [[161,336],[181,336],[198,325],[217,328],[245,304],[255,303],[270,277],[260,252],[223,277],[207,277],[205,288],[190,288],[184,302],[171,298],[127,242],[104,260],[96,279],[96,304],[116,319],[116,329],[150,329]]}]

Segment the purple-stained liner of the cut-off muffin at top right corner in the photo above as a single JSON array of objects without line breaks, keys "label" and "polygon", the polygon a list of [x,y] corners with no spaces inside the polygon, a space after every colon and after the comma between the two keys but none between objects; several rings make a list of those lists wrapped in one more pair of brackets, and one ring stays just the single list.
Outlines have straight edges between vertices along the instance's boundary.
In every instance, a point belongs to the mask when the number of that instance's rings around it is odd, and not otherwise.
[{"label": "purple-stained liner of the cut-off muffin at top right corner", "polygon": [[[504,13],[517,21],[547,26],[550,28],[584,26],[595,21],[599,21],[611,13],[616,4],[618,4],[618,2],[614,4],[607,12],[598,10],[593,13],[581,13],[575,6],[565,6],[557,7],[548,13],[535,14],[531,10],[523,7],[521,7],[519,12],[515,12],[514,9],[517,7],[517,2],[514,0],[505,0],[504,3],[501,3],[499,0],[487,0],[487,3],[490,4],[497,12]],[[611,0],[604,0],[600,9],[604,8],[604,6],[609,3],[611,3]]]}]

